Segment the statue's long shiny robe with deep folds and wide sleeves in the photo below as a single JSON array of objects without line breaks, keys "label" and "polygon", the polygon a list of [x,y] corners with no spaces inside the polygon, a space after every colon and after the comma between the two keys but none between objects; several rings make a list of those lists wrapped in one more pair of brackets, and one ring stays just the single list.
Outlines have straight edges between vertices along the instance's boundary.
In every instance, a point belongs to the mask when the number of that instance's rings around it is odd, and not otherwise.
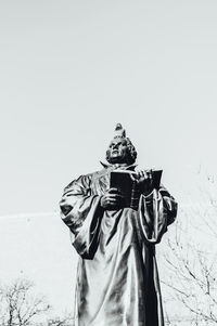
[{"label": "statue's long shiny robe with deep folds and wide sleeves", "polygon": [[79,255],[75,326],[164,326],[155,245],[176,218],[164,187],[141,195],[138,210],[103,210],[108,166],[64,190],[60,206]]}]

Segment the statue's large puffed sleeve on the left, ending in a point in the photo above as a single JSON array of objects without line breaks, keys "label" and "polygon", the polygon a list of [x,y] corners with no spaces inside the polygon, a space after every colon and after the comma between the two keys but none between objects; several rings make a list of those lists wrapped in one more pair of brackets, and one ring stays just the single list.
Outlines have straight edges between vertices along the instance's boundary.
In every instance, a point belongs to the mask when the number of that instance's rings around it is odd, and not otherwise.
[{"label": "statue's large puffed sleeve on the left, ending in a point", "polygon": [[100,196],[91,195],[91,174],[69,183],[60,201],[61,217],[71,230],[72,244],[86,259],[92,259],[99,244],[102,218]]}]

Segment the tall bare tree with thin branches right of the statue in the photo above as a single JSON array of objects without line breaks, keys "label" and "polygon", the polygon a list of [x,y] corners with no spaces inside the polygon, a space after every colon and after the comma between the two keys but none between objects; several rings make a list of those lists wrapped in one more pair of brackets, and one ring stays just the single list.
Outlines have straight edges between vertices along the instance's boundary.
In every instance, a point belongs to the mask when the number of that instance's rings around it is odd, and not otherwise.
[{"label": "tall bare tree with thin branches right of the statue", "polygon": [[[208,183],[213,180],[208,180]],[[166,325],[217,324],[216,192],[203,193],[199,205],[179,213],[174,236],[167,237],[163,284]],[[206,197],[206,198],[205,198]],[[174,321],[174,322],[173,322]]]}]

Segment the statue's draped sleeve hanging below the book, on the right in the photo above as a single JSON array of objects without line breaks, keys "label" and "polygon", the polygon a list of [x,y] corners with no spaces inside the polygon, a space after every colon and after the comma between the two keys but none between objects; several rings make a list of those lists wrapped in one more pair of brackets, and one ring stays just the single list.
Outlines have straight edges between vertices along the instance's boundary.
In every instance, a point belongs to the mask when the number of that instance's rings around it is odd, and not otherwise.
[{"label": "statue's draped sleeve hanging below the book, on the right", "polygon": [[177,203],[165,187],[153,190],[148,196],[140,196],[139,223],[148,243],[158,244],[176,216]]}]

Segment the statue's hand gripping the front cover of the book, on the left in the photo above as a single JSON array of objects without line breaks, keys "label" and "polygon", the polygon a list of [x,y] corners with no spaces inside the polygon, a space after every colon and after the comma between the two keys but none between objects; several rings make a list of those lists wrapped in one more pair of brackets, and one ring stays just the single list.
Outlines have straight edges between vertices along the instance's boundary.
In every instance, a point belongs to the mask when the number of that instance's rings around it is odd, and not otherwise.
[{"label": "statue's hand gripping the front cover of the book, on the left", "polygon": [[117,188],[110,188],[100,200],[101,207],[106,210],[119,209],[123,206],[124,197]]}]

